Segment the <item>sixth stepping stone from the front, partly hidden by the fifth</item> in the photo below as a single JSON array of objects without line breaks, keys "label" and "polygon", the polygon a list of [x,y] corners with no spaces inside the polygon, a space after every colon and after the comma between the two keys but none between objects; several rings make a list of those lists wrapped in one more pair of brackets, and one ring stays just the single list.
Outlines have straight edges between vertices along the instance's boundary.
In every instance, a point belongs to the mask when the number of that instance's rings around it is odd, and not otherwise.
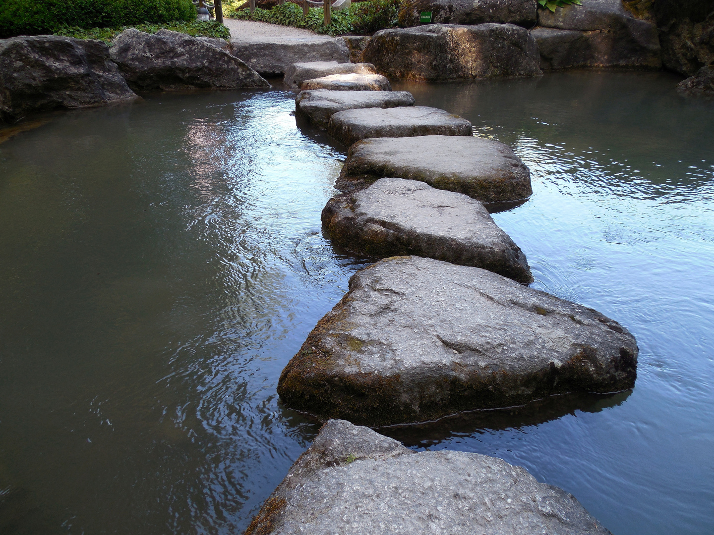
[{"label": "sixth stepping stone from the front, partly hidden by the fifth", "polygon": [[338,111],[354,108],[396,108],[414,106],[408,91],[302,91],[295,99],[295,113],[325,130]]}]

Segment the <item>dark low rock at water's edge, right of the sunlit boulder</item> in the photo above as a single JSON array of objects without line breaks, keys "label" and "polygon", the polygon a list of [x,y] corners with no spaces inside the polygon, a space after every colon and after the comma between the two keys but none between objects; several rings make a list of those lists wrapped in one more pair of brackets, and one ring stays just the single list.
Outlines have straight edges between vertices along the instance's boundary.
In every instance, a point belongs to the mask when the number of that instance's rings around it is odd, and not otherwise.
[{"label": "dark low rock at water's edge, right of the sunlit boulder", "polygon": [[644,28],[647,39],[632,39],[633,34],[615,30],[579,31],[536,28],[531,35],[538,43],[540,68],[660,68],[657,29]]}]

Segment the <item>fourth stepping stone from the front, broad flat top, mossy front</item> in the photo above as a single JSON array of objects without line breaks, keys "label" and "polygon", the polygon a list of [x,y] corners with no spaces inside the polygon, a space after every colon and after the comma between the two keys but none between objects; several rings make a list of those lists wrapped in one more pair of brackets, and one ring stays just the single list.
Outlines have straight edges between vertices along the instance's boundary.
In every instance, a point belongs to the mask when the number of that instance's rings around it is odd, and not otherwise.
[{"label": "fourth stepping stone from the front, broad flat top, mossy front", "polygon": [[363,189],[383,177],[422,180],[482,203],[521,200],[533,193],[531,171],[521,158],[508,145],[486,138],[366,139],[350,147],[335,187]]}]

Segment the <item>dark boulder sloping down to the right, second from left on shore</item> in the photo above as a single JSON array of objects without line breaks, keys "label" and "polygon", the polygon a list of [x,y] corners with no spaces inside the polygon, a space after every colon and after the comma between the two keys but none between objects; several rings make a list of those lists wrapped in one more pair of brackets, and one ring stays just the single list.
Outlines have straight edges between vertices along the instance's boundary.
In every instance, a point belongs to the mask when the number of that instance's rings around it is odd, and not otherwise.
[{"label": "dark boulder sloping down to the right, second from left on shore", "polygon": [[270,87],[226,49],[178,31],[126,29],[114,39],[111,58],[134,91]]}]

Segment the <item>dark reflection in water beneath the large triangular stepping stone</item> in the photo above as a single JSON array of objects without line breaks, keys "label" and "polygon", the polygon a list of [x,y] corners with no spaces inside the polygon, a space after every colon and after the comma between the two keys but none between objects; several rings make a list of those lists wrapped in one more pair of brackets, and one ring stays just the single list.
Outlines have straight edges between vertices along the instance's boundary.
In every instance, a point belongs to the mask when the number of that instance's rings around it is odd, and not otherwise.
[{"label": "dark reflection in water beneath the large triangular stepping stone", "polygon": [[457,434],[481,434],[488,431],[528,427],[559,419],[576,410],[600,412],[617,407],[632,393],[624,390],[615,394],[563,394],[506,409],[462,412],[423,424],[382,427],[381,434],[397,439],[406,447],[430,447]]}]

